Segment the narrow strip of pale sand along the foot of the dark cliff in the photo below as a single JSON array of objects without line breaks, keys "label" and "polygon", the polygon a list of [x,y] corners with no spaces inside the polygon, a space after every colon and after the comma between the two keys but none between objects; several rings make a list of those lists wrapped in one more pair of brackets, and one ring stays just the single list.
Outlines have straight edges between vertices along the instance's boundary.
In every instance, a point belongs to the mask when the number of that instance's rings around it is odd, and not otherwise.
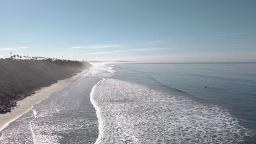
[{"label": "narrow strip of pale sand along the foot of the dark cliff", "polygon": [[41,101],[45,100],[46,98],[50,97],[51,94],[60,91],[60,89],[67,87],[74,81],[78,80],[80,76],[88,73],[89,68],[81,71],[80,73],[69,77],[68,79],[59,80],[56,83],[53,83],[49,87],[43,87],[38,89],[36,94],[31,95],[23,100],[17,102],[18,108],[15,108],[9,113],[1,114],[0,115],[0,132],[6,128],[9,123],[15,121],[28,111],[30,111],[33,105],[40,103]]}]

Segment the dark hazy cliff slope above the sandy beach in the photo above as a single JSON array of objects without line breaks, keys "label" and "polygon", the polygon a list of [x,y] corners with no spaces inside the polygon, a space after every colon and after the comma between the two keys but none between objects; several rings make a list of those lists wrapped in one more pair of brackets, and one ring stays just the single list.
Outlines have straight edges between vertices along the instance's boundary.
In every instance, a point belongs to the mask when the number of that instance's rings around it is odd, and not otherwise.
[{"label": "dark hazy cliff slope above the sandy beach", "polygon": [[0,113],[37,88],[67,79],[91,65],[77,61],[0,59]]}]

